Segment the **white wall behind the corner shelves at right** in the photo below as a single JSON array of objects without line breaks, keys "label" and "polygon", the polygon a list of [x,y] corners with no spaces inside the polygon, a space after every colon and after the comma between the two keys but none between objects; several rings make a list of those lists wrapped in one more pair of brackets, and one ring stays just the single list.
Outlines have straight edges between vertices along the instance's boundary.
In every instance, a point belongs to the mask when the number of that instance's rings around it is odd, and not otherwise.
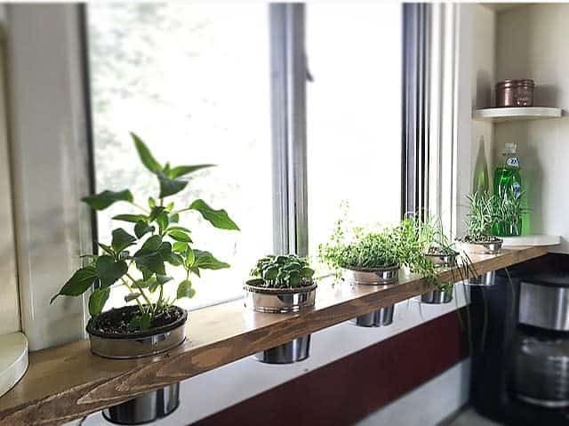
[{"label": "white wall behind the corner shelves at right", "polygon": [[[517,142],[522,184],[528,191],[531,231],[562,236],[552,249],[569,253],[569,4],[532,4],[497,18],[496,79],[532,78],[534,105],[560,107],[565,117],[495,125],[496,158],[504,142]],[[529,183],[529,185],[527,185]]]}]

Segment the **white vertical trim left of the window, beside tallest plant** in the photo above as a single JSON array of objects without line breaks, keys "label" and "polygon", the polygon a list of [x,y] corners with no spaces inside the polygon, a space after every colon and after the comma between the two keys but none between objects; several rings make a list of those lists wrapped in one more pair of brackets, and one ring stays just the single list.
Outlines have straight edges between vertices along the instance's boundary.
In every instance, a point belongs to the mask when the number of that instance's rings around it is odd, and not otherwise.
[{"label": "white vertical trim left of the window, beside tallest plant", "polygon": [[21,320],[30,350],[84,337],[57,293],[91,251],[80,6],[9,4],[12,165]]}]

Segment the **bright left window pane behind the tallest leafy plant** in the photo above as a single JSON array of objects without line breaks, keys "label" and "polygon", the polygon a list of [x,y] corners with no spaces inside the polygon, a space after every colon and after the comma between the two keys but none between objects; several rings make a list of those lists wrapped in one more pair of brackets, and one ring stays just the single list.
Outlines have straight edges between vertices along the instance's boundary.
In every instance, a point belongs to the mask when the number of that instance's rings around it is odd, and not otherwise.
[{"label": "bright left window pane behind the tallest leafy plant", "polygon": [[[97,191],[130,188],[144,205],[157,196],[131,131],[158,161],[218,165],[172,198],[188,206],[203,197],[228,210],[241,232],[212,229],[197,213],[183,213],[180,224],[192,230],[195,248],[232,268],[192,278],[196,297],[180,304],[238,296],[253,261],[272,247],[267,5],[89,4],[88,29]],[[111,217],[125,209],[98,215],[101,242],[122,226]],[[166,285],[172,292],[177,278]],[[108,307],[124,293],[116,289]]]}]

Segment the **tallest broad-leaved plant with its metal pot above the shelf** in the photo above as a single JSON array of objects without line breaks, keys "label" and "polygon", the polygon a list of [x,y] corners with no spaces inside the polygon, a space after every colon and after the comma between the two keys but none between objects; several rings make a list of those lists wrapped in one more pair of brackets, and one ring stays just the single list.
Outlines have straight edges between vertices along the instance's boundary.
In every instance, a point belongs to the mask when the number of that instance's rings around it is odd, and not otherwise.
[{"label": "tallest broad-leaved plant with its metal pot above the shelf", "polygon": [[[136,206],[140,213],[116,215],[114,220],[126,222],[132,229],[114,229],[110,244],[98,243],[100,253],[83,256],[84,267],[76,270],[51,301],[58,296],[80,296],[94,288],[89,295],[91,319],[86,330],[92,352],[107,358],[154,355],[183,342],[188,314],[173,303],[196,293],[192,274],[199,277],[203,269],[229,267],[212,253],[196,248],[190,229],[179,223],[182,213],[200,213],[218,229],[239,229],[225,210],[214,210],[202,199],[180,209],[165,201],[186,188],[188,181],[181,179],[183,176],[212,165],[161,165],[134,133],[132,140],[142,165],[156,175],[157,197],[148,198],[148,206],[135,203],[129,189],[104,190],[84,197],[84,203],[95,211],[124,202]],[[167,269],[183,271],[184,279],[173,297],[164,293],[164,284],[173,279]],[[116,285],[129,291],[124,297],[125,306],[103,311]]]}]

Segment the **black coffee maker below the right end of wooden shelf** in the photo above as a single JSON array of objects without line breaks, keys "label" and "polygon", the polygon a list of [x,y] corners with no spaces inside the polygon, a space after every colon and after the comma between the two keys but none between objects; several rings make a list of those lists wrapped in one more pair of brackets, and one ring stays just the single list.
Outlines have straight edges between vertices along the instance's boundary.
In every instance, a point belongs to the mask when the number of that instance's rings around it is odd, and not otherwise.
[{"label": "black coffee maker below the right end of wooden shelf", "polygon": [[497,422],[569,425],[569,255],[470,288],[471,404]]}]

